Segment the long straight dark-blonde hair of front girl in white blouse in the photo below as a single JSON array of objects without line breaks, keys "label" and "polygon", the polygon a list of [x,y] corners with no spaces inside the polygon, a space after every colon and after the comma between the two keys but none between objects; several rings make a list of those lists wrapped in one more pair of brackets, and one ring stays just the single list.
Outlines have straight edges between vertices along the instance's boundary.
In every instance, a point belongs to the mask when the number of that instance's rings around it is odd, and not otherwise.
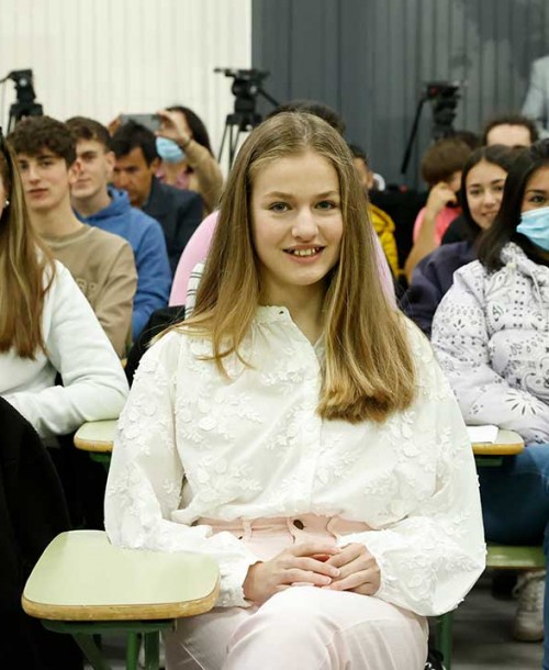
[{"label": "long straight dark-blonde hair of front girl in white blouse", "polygon": [[323,156],[337,171],[344,221],[339,263],[324,299],[326,359],[317,411],[352,423],[383,421],[415,395],[406,325],[383,292],[376,233],[351,154],[345,139],[312,114],[278,114],[244,143],[222,196],[197,306],[177,328],[210,337],[222,372],[226,356],[239,357],[261,295],[251,235],[254,176],[273,160],[305,152]]}]

